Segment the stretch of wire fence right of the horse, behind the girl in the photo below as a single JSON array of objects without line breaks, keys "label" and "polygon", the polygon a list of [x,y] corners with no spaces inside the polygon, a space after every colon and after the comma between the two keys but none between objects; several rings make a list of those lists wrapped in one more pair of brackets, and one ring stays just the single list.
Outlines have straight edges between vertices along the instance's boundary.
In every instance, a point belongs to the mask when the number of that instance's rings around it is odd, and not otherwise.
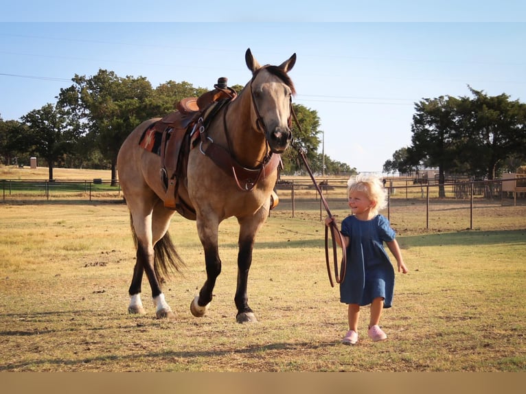
[{"label": "stretch of wire fence right of the horse, behind the girl", "polygon": [[[526,187],[503,187],[512,182],[521,185],[520,182],[523,181],[525,178],[492,181],[451,180],[438,184],[422,183],[413,178],[387,178],[385,187],[388,191],[388,204],[385,216],[389,220],[403,223],[406,227],[430,229],[433,227],[433,221],[440,221],[441,228],[450,225],[451,229],[456,230],[474,229],[477,227],[477,216],[488,216],[485,210],[490,207],[526,206]],[[347,179],[325,178],[320,179],[318,183],[331,213],[339,216],[349,214]],[[312,182],[294,178],[282,179],[275,189],[279,196],[279,205],[271,215],[279,212],[281,215],[290,214],[292,218],[304,218],[312,217],[312,214],[317,212],[319,220],[327,216]],[[452,223],[444,223],[442,218],[446,217],[445,213],[457,217]]]}]

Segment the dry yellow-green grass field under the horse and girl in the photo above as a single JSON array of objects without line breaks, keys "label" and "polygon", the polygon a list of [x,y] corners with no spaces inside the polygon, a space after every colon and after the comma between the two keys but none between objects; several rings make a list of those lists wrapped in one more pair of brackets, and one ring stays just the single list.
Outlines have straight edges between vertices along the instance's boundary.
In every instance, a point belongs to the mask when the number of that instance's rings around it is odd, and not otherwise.
[{"label": "dry yellow-green grass field under the horse and girl", "polygon": [[[345,202],[331,203],[341,220]],[[409,274],[397,275],[381,321],[389,339],[367,339],[364,308],[354,347],[340,343],[346,306],[328,281],[316,200],[295,218],[273,211],[260,231],[249,325],[233,305],[236,220],[220,227],[209,314],[194,318],[203,251],[195,223],[174,216],[187,266],[164,284],[176,314],[164,321],[146,283],[148,314],[126,312],[135,251],[125,205],[0,204],[0,371],[525,371],[526,207],[479,202],[467,231],[464,206],[434,202],[440,218],[426,229],[417,205],[399,204],[391,222]]]}]

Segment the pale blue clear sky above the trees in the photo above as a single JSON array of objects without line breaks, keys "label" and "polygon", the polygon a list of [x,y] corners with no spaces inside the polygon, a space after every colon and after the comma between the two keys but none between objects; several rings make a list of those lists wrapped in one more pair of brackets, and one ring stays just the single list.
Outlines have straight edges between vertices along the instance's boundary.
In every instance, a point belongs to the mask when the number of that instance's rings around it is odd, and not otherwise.
[{"label": "pale blue clear sky above the trees", "polygon": [[154,88],[211,88],[218,77],[250,80],[247,48],[261,64],[295,53],[293,101],[317,111],[319,152],[381,172],[411,145],[424,98],[470,96],[471,86],[526,102],[526,2],[367,3],[16,1],[0,15],[0,116],[54,104],[73,76],[99,69]]}]

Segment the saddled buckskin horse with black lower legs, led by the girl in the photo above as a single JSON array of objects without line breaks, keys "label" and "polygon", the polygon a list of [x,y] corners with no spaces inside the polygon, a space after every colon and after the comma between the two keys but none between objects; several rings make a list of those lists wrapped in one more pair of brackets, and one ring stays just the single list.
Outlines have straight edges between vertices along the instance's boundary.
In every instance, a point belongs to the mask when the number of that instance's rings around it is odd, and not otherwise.
[{"label": "saddled buckskin horse with black lower legs, led by the girl", "polygon": [[119,183],[137,247],[129,313],[145,313],[141,281],[146,273],[157,318],[174,317],[160,283],[162,275],[181,268],[168,234],[178,212],[196,220],[205,253],[207,277],[190,303],[192,314],[207,312],[221,272],[218,227],[234,216],[240,226],[236,321],[257,321],[247,281],[255,235],[268,217],[281,154],[292,140],[295,88],[288,71],[296,54],[279,66],[262,66],[247,49],[245,61],[252,78],[239,94],[218,81],[208,97],[181,100],[179,111],[141,123],[119,150]]}]

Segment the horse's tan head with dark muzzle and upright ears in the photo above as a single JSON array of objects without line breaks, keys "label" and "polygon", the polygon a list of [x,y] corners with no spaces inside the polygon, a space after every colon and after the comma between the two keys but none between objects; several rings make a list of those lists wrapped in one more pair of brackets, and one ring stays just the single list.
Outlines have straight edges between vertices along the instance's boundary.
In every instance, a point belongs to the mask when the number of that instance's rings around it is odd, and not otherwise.
[{"label": "horse's tan head with dark muzzle and upright ears", "polygon": [[264,132],[272,152],[283,153],[293,139],[290,116],[292,95],[296,92],[288,71],[294,67],[296,54],[279,66],[261,66],[250,49],[244,58],[252,71],[250,89],[255,128]]}]

